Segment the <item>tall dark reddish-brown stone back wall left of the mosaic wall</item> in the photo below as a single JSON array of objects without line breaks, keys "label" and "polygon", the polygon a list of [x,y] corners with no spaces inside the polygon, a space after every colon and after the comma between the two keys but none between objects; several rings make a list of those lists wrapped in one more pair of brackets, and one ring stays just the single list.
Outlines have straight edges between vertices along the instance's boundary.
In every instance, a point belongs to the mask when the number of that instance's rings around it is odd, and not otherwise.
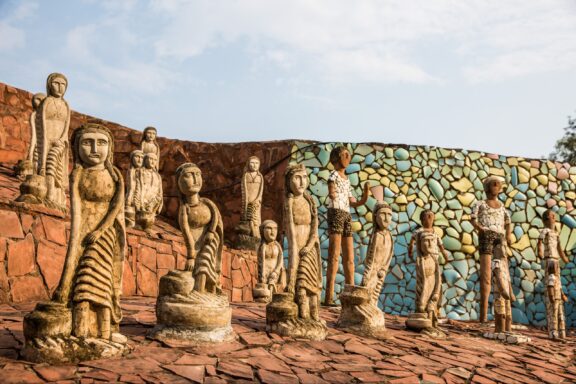
[{"label": "tall dark reddish-brown stone back wall left of the mosaic wall", "polygon": [[[14,166],[25,159],[30,145],[30,114],[32,94],[0,83],[0,164]],[[73,104],[73,101],[72,101]],[[114,134],[114,165],[125,175],[130,168],[130,153],[140,149],[142,131],[97,119],[75,111],[71,113],[70,131],[80,125],[102,123]],[[159,127],[162,132],[162,128]],[[252,143],[200,143],[158,137],[161,148],[158,172],[162,175],[164,191],[163,215],[176,220],[178,198],[174,171],[185,162],[196,163],[204,172],[203,195],[220,208],[224,220],[226,241],[235,240],[234,228],[242,211],[241,176],[250,156],[260,159],[260,172],[264,180],[262,218],[282,221],[283,174],[293,141]]]}]

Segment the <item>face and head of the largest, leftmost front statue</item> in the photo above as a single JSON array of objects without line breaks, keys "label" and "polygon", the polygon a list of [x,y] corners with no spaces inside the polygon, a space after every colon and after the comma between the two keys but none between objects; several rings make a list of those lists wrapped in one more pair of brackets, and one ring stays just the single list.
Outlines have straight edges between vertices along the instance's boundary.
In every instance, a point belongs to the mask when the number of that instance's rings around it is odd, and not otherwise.
[{"label": "face and head of the largest, leftmost front statue", "polygon": [[115,177],[114,138],[102,124],[87,123],[74,130],[72,155],[75,168],[107,168]]}]

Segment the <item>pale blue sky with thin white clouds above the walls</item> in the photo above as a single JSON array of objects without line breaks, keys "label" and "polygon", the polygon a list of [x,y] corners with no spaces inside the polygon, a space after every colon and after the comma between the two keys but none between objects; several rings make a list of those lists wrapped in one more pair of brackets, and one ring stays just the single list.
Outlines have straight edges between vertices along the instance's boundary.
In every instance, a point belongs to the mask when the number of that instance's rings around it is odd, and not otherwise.
[{"label": "pale blue sky with thin white clouds above the walls", "polygon": [[209,142],[542,157],[576,114],[572,0],[0,0],[0,81]]}]

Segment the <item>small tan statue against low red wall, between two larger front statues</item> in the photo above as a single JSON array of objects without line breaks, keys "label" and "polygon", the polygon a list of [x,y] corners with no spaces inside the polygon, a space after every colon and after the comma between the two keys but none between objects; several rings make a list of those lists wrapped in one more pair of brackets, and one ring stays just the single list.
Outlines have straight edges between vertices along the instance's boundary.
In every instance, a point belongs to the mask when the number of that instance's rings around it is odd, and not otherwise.
[{"label": "small tan statue against low red wall, between two larger front statues", "polygon": [[266,220],[260,226],[262,242],[258,247],[258,283],[252,290],[255,301],[268,303],[272,295],[284,288],[284,256],[282,246],[276,241],[278,224]]}]

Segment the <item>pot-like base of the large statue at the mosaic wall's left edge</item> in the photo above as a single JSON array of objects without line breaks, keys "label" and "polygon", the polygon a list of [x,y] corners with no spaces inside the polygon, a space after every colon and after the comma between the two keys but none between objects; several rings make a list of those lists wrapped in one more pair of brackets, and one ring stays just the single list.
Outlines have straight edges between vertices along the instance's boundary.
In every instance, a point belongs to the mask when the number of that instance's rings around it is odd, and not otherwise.
[{"label": "pot-like base of the large statue at the mosaic wall's left edge", "polygon": [[290,293],[275,293],[266,306],[266,331],[316,341],[324,340],[328,334],[324,320],[298,317],[298,305]]}]

